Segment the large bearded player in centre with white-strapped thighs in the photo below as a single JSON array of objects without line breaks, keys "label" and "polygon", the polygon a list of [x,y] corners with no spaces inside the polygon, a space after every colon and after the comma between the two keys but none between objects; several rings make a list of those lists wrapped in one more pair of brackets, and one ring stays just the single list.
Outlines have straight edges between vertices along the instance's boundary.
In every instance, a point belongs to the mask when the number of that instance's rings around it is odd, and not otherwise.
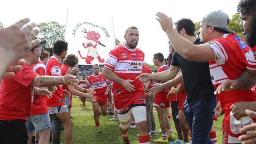
[{"label": "large bearded player in centre with white-strapped thighs", "polygon": [[136,48],[139,41],[138,29],[135,26],[127,28],[124,39],[125,43],[109,53],[103,75],[113,81],[114,101],[124,143],[130,144],[127,132],[131,110],[139,132],[139,143],[149,144],[144,88],[143,84],[135,79],[141,74],[145,56]]}]

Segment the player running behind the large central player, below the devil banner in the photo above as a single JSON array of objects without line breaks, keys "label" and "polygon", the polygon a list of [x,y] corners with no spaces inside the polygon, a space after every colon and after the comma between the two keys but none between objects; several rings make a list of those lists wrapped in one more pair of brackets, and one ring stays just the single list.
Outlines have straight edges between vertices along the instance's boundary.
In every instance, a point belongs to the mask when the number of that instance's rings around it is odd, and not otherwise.
[{"label": "player running behind the large central player, below the devil banner", "polygon": [[[100,66],[98,64],[93,65],[93,74],[88,78],[89,86],[95,89],[95,100],[92,100],[93,105],[93,118],[96,124],[97,133],[101,133],[99,114],[106,116],[107,114],[107,102],[108,102],[108,90],[110,87],[110,81],[104,78],[100,72]],[[99,111],[100,106],[100,111]]]}]

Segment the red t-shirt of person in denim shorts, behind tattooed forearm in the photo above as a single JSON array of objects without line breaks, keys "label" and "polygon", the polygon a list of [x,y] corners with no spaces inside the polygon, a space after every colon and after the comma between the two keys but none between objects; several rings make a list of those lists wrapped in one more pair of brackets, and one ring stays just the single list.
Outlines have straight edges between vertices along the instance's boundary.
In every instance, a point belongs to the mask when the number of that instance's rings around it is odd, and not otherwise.
[{"label": "red t-shirt of person in denim shorts, behind tattooed forearm", "polygon": [[[39,76],[45,76],[46,66],[41,61],[31,66],[31,69],[39,74]],[[32,95],[30,115],[39,115],[48,113],[46,96],[40,96],[39,94]]]}]

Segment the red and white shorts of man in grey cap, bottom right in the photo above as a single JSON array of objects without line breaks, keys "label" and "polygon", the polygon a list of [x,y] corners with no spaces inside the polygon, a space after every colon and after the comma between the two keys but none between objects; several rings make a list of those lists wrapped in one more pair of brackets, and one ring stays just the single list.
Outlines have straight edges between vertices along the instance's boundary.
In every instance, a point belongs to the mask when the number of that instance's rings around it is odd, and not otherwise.
[{"label": "red and white shorts of man in grey cap, bottom right", "polygon": [[222,128],[223,128],[223,135],[224,135],[225,144],[241,143],[238,140],[238,137],[242,134],[241,133],[234,134],[230,131],[230,121],[223,119]]}]

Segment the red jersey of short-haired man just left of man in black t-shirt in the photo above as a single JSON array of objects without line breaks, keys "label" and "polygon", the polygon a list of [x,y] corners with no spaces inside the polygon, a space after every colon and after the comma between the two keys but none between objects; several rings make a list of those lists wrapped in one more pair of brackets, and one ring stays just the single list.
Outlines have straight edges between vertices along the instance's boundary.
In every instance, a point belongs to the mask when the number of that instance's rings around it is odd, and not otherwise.
[{"label": "red jersey of short-haired man just left of man in black t-shirt", "polygon": [[[158,72],[163,72],[165,70],[169,70],[169,66],[167,65],[163,65],[160,68],[158,68],[157,73]],[[161,82],[158,82],[161,83]],[[158,94],[155,94],[155,100],[156,102],[170,102],[171,98],[167,99],[167,95],[170,91],[170,88],[166,88],[163,90],[163,92],[159,92]]]}]

